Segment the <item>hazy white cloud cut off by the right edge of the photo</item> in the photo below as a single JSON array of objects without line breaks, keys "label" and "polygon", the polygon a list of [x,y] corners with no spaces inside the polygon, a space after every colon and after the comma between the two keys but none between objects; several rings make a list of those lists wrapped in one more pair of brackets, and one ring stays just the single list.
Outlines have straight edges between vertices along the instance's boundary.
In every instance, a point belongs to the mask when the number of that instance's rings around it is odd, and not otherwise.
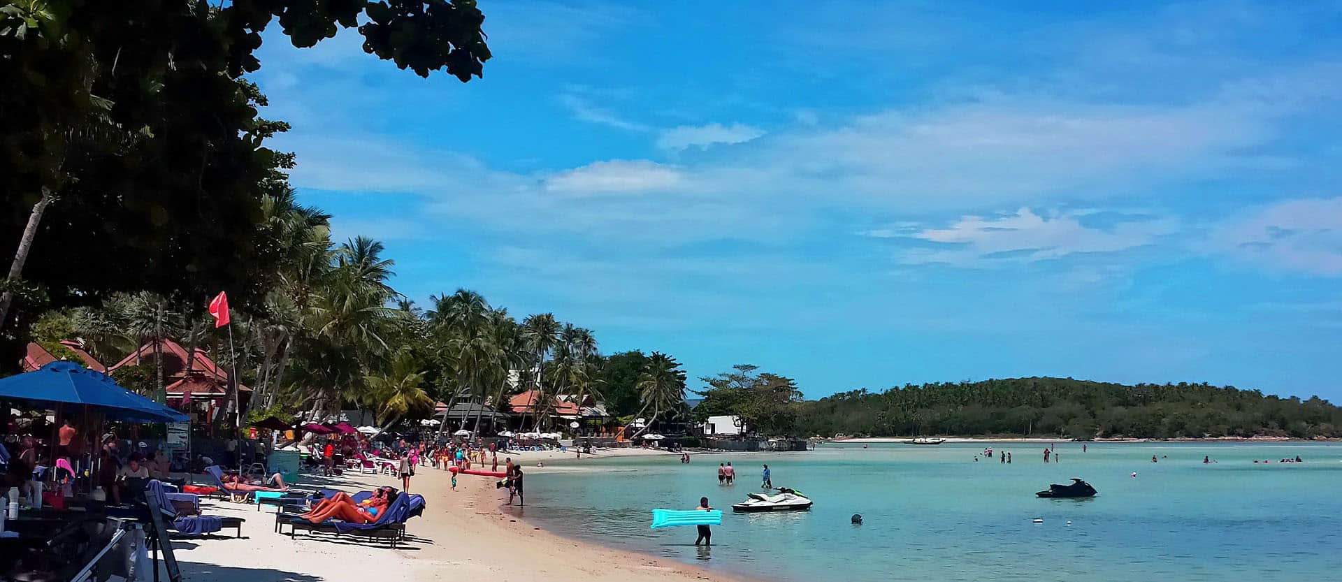
[{"label": "hazy white cloud cut off by the right edge of the photo", "polygon": [[1342,276],[1342,197],[1259,208],[1215,228],[1206,249],[1270,270]]}]

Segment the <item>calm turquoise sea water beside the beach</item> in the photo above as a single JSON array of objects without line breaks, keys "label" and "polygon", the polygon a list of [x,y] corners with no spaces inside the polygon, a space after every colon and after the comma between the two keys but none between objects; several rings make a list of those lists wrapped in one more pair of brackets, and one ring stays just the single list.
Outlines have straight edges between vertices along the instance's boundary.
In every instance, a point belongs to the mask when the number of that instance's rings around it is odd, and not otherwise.
[{"label": "calm turquoise sea water beside the beach", "polygon": [[[527,480],[526,516],[560,534],[709,569],[782,581],[1299,581],[1342,569],[1342,445],[994,444],[821,445],[816,452],[569,463]],[[1151,455],[1165,457],[1151,463]],[[1204,465],[1209,455],[1219,463]],[[1304,464],[1253,464],[1302,456]],[[718,463],[737,467],[719,487]],[[805,492],[809,512],[731,514],[773,484]],[[581,468],[608,465],[613,472]],[[1129,475],[1137,472],[1133,479]],[[1091,500],[1036,499],[1082,477]],[[652,531],[650,510],[726,510],[711,550],[692,527]],[[866,518],[849,524],[852,514]],[[1032,523],[1043,518],[1044,523]],[[1067,522],[1071,520],[1071,524]]]}]

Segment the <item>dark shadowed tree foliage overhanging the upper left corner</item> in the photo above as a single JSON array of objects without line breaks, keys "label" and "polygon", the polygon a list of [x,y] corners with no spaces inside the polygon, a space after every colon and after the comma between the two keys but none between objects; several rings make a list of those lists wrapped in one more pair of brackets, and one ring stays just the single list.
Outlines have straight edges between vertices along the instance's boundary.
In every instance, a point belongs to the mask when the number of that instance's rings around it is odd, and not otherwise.
[{"label": "dark shadowed tree foliage overhanging the upper left corner", "polygon": [[357,28],[366,52],[464,82],[490,58],[483,20],[474,0],[0,4],[0,249],[36,219],[15,266],[44,291],[0,316],[0,353],[20,353],[48,306],[138,291],[197,306],[219,290],[252,306],[287,284],[276,249],[293,240],[267,204],[294,157],[264,142],[289,126],[258,115],[266,98],[242,78],[271,21],[297,47]]}]

